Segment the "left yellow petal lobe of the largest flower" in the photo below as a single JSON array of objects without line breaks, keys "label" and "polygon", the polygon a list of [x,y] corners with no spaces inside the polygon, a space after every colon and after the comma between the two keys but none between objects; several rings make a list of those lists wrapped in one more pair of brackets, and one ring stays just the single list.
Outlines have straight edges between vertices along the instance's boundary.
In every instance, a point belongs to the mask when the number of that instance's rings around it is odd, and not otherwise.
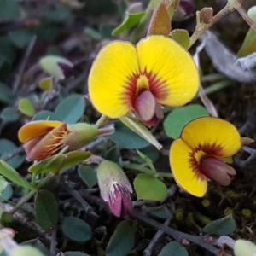
[{"label": "left yellow petal lobe of the largest flower", "polygon": [[139,72],[135,46],[115,41],[97,55],[89,75],[89,93],[95,108],[110,118],[131,110],[129,82]]}]

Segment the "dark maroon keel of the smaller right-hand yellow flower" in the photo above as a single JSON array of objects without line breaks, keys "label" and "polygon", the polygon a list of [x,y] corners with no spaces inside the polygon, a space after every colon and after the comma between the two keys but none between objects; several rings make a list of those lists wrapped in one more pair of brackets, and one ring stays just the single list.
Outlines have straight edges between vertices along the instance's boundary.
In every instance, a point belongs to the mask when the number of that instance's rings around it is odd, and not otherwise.
[{"label": "dark maroon keel of the smaller right-hand yellow flower", "polygon": [[230,185],[231,177],[236,175],[234,168],[213,156],[201,160],[200,170],[222,186]]}]

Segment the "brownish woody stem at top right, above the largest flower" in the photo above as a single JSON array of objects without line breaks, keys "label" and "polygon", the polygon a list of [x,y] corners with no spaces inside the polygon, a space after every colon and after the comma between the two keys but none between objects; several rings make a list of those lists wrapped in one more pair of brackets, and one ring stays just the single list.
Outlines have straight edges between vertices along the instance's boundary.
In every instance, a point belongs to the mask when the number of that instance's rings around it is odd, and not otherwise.
[{"label": "brownish woody stem at top right, above the largest flower", "polygon": [[193,35],[190,37],[190,42],[189,42],[189,48],[195,44],[195,42],[197,41],[198,38],[201,37],[201,34],[203,34],[204,32],[206,32],[214,23],[216,23],[218,20],[220,20],[221,18],[224,17],[224,15],[229,14],[230,12],[232,12],[233,9],[229,9],[228,4],[224,7],[224,9],[221,9],[217,15],[213,16],[212,18],[212,22],[209,24],[205,24],[205,26],[203,26],[200,30],[198,29],[198,27],[200,27],[199,25],[201,25],[201,23],[199,23],[196,27],[195,27],[195,32],[193,33]]}]

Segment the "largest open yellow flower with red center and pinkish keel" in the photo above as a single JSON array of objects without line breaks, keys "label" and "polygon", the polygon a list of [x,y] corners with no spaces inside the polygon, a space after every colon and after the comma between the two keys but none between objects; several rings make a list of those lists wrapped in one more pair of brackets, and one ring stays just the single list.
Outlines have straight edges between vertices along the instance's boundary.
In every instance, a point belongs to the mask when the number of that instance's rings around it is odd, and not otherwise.
[{"label": "largest open yellow flower with red center and pinkish keel", "polygon": [[195,96],[199,77],[182,46],[171,38],[149,36],[136,46],[107,44],[91,67],[88,83],[99,112],[120,118],[132,111],[151,126],[163,118],[161,105],[182,106]]}]

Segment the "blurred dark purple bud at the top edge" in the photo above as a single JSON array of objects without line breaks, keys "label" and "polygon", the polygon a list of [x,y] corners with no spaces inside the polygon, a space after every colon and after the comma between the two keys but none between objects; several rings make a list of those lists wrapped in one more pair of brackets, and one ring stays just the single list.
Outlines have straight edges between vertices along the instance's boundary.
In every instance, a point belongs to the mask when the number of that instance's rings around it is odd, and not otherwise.
[{"label": "blurred dark purple bud at the top edge", "polygon": [[183,21],[189,19],[193,15],[195,15],[194,0],[181,0],[172,20]]}]

